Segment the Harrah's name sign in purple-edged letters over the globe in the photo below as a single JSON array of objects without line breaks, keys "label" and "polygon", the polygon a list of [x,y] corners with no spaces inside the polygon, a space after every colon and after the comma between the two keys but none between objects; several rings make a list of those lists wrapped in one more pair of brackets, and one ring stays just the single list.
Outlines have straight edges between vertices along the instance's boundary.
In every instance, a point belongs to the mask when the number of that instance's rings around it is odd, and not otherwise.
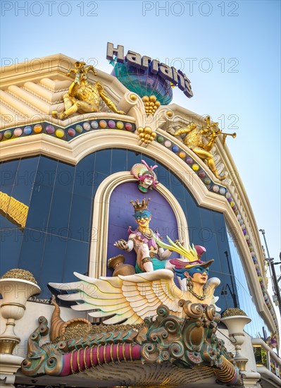
[{"label": "Harrah's name sign in purple-edged letters over the globe", "polygon": [[[108,61],[116,59],[119,63],[123,63],[124,46],[120,46],[120,44],[118,44],[117,49],[115,49],[113,44],[108,42],[106,59],[108,59]],[[163,80],[168,80],[173,83],[173,85],[177,85],[177,87],[179,87],[179,89],[182,90],[188,98],[193,96],[189,79],[185,73],[182,73],[182,71],[177,70],[173,66],[170,67],[165,63],[157,61],[156,59],[151,59],[149,56],[141,56],[137,52],[131,50],[127,51],[125,61],[128,65],[134,66],[135,68],[141,68],[142,70],[150,68],[152,74],[158,74],[159,77],[163,78]]]}]

